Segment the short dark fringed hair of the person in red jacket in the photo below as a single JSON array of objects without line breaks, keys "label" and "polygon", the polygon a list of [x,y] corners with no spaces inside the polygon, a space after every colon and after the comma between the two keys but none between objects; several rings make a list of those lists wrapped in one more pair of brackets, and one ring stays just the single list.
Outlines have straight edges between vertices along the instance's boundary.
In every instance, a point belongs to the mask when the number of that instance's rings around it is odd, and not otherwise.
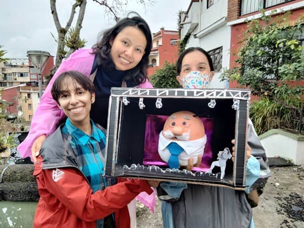
[{"label": "short dark fringed hair of the person in red jacket", "polygon": [[77,82],[84,90],[89,91],[90,94],[93,94],[95,92],[93,82],[86,75],[75,70],[65,71],[55,79],[51,87],[51,96],[57,102],[57,104],[59,104],[58,100],[61,95],[61,83],[67,77],[72,78],[74,82]]}]

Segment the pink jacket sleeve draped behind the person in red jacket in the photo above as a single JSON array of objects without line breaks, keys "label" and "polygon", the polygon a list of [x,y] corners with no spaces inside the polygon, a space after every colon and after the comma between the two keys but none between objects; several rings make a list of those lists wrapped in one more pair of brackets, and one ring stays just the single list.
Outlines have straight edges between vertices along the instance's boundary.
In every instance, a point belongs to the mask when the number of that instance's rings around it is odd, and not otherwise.
[{"label": "pink jacket sleeve draped behind the person in red jacket", "polygon": [[89,74],[90,70],[92,69],[93,60],[94,55],[90,54],[90,51],[78,50],[74,52],[68,59],[62,61],[43,93],[40,104],[32,118],[28,136],[17,147],[17,150],[22,158],[28,156],[31,157],[31,148],[36,138],[43,134],[49,136],[55,131],[59,121],[65,116],[64,113],[57,107],[56,102],[51,96],[51,87],[54,80],[62,72],[69,70],[78,70],[85,75],[90,76]]}]

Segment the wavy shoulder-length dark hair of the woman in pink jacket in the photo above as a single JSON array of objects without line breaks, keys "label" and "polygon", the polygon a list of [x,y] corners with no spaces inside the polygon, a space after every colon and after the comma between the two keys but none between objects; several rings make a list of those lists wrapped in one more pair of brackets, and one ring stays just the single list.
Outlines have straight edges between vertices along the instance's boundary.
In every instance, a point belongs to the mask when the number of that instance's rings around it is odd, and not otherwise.
[{"label": "wavy shoulder-length dark hair of the woman in pink jacket", "polygon": [[102,69],[111,70],[115,68],[115,65],[111,59],[110,41],[114,40],[118,33],[125,27],[133,26],[139,28],[147,39],[147,46],[145,48],[145,54],[141,61],[132,69],[126,71],[124,77],[125,81],[131,81],[134,86],[145,82],[147,77],[147,68],[149,63],[149,55],[152,48],[152,35],[147,22],[141,17],[123,18],[116,23],[112,28],[105,30],[99,34],[99,41],[93,45],[93,53],[97,56],[98,65],[102,66]]}]

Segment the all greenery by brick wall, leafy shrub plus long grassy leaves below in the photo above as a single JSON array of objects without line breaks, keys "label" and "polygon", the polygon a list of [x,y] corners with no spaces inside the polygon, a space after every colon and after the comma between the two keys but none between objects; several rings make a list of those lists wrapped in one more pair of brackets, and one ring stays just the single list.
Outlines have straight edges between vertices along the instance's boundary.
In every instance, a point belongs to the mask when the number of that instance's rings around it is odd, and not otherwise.
[{"label": "all greenery by brick wall, leafy shrub plus long grassy leaves below", "polygon": [[237,53],[238,66],[221,75],[222,80],[237,80],[259,97],[250,106],[258,134],[282,123],[288,125],[295,118],[288,107],[304,106],[304,87],[294,87],[290,82],[304,79],[304,52],[299,41],[304,17],[291,24],[290,14],[271,17],[262,11],[261,20],[247,22],[248,30]]}]

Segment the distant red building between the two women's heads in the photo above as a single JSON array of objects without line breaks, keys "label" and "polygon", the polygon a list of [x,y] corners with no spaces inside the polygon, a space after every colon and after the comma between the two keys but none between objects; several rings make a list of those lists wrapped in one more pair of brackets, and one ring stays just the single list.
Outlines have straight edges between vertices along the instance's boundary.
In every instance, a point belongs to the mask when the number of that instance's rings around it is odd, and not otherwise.
[{"label": "distant red building between the two women's heads", "polygon": [[153,74],[155,69],[162,67],[165,61],[176,62],[178,58],[177,40],[179,40],[178,31],[160,28],[159,32],[153,33],[148,76]]}]

